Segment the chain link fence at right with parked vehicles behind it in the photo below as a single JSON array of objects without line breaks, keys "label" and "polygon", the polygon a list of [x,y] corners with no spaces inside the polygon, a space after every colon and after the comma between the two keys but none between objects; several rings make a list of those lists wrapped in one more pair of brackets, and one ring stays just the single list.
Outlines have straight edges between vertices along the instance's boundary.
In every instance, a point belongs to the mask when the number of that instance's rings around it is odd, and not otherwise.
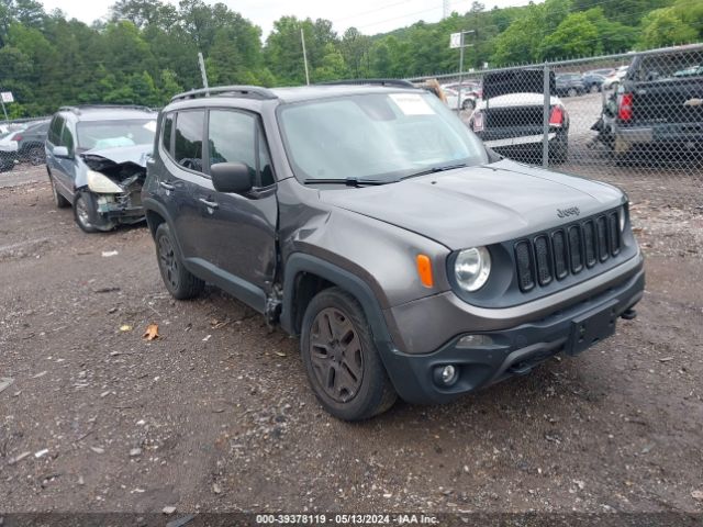
[{"label": "chain link fence at right with parked vehicles behind it", "polygon": [[509,158],[702,210],[703,44],[433,78]]}]

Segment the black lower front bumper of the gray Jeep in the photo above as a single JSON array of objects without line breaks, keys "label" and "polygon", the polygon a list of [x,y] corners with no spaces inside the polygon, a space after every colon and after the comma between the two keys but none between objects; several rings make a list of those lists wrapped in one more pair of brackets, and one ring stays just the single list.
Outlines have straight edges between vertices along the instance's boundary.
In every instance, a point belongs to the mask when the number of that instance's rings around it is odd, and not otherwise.
[{"label": "black lower front bumper of the gray Jeep", "polygon": [[[496,330],[476,327],[476,330],[456,335],[429,354],[402,352],[393,346],[381,349],[391,382],[399,395],[410,403],[445,403],[514,374],[527,373],[559,352],[577,355],[612,334],[615,319],[641,299],[645,273],[641,258],[637,258],[636,271],[617,284],[542,318]],[[574,335],[574,329],[583,333]],[[458,347],[467,334],[486,335],[492,344]],[[580,335],[587,340],[581,341]],[[453,365],[458,375],[450,386],[443,385],[436,374],[438,368],[447,365]]]}]

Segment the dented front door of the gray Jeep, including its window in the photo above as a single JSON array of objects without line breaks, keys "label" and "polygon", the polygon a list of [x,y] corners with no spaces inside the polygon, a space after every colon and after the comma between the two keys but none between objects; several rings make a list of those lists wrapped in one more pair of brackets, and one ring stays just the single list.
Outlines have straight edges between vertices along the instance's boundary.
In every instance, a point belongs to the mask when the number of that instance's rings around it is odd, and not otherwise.
[{"label": "dented front door of the gray Jeep, including its window", "polygon": [[246,194],[216,192],[203,179],[199,195],[203,257],[221,287],[264,311],[276,269],[278,203],[266,136],[258,115],[211,109],[205,147],[208,169],[217,162],[243,162],[254,189]]}]

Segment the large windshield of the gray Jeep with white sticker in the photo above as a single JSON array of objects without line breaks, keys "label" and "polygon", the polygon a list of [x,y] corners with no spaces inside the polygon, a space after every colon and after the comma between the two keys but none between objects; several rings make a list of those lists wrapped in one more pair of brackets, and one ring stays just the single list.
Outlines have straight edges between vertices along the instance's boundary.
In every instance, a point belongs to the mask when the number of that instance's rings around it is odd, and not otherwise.
[{"label": "large windshield of the gray Jeep with white sticker", "polygon": [[295,177],[393,180],[487,162],[486,148],[434,96],[369,93],[280,106]]}]

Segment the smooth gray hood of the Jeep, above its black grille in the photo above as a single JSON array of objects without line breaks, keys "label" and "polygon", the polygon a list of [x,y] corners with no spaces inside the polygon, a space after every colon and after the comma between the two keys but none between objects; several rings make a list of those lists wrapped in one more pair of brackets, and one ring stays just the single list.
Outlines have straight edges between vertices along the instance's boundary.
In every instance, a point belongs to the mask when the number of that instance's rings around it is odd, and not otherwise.
[{"label": "smooth gray hood of the Jeep, above its black grille", "polygon": [[570,223],[620,205],[609,184],[510,160],[360,189],[321,191],[331,205],[412,231],[456,250]]}]

